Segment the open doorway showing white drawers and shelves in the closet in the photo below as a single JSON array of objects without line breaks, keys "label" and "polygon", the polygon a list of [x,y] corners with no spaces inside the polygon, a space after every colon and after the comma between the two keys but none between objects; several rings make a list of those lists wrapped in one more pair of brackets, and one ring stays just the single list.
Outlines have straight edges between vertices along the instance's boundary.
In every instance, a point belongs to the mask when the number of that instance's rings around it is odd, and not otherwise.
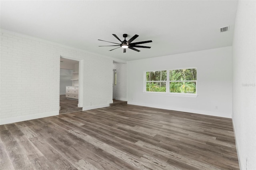
[{"label": "open doorway showing white drawers and shelves in the closet", "polygon": [[79,62],[60,57],[60,114],[82,111],[78,107]]}]

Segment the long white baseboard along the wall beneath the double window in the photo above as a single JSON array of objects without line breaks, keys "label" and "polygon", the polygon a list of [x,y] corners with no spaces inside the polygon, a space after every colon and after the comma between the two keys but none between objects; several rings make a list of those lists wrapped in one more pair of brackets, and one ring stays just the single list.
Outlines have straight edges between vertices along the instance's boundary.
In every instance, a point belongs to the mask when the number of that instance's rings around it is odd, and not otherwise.
[{"label": "long white baseboard along the wall beneath the double window", "polygon": [[211,112],[211,111],[201,111],[201,110],[194,110],[194,109],[185,109],[180,107],[172,107],[172,106],[162,106],[162,105],[152,105],[148,103],[138,103],[138,102],[127,102],[129,105],[138,105],[138,106],[145,106],[145,107],[153,107],[158,109],[166,109],[172,111],[181,111],[181,112],[188,112],[188,113],[196,113],[201,115],[209,115],[209,116],[217,116],[217,117],[225,117],[225,118],[232,118],[231,114],[227,113],[220,113],[220,112]]}]

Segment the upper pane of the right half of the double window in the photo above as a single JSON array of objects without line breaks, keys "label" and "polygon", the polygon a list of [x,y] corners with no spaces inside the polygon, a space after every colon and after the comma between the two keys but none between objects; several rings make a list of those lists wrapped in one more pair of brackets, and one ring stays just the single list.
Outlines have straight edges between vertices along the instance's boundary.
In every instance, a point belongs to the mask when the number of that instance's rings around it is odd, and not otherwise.
[{"label": "upper pane of the right half of the double window", "polygon": [[170,70],[170,81],[196,80],[196,69]]}]

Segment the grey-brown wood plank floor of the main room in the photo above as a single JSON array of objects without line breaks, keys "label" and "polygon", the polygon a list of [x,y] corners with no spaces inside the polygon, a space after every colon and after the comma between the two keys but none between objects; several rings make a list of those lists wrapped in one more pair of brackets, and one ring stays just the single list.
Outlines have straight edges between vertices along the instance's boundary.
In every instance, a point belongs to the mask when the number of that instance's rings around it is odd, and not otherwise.
[{"label": "grey-brown wood plank floor of the main room", "polygon": [[0,126],[0,169],[239,169],[232,120],[134,105]]}]

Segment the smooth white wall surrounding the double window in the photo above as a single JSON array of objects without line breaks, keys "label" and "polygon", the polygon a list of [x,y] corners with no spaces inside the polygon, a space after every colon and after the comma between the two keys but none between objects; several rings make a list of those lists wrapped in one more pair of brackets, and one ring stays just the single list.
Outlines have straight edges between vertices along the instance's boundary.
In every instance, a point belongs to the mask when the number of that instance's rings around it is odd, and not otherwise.
[{"label": "smooth white wall surrounding the double window", "polygon": [[[232,47],[128,61],[128,104],[231,118]],[[143,93],[144,71],[197,68],[198,97]],[[218,109],[216,109],[218,106]]]}]

